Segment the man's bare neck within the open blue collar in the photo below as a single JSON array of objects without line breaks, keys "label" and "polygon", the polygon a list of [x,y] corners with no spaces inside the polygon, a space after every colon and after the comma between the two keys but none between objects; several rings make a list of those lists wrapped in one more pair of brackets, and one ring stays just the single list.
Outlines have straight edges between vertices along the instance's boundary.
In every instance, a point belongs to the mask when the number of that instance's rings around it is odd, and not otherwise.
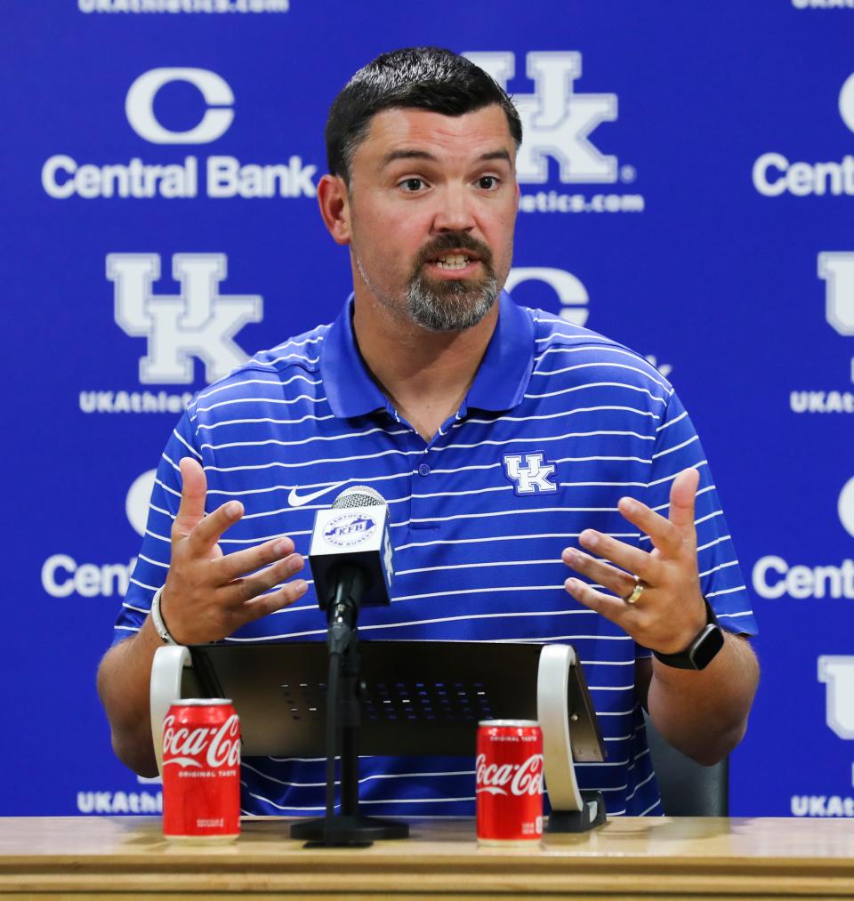
[{"label": "man's bare neck within the open blue collar", "polygon": [[369,291],[355,296],[353,328],[362,358],[407,422],[430,441],[468,393],[498,321],[498,304],[462,332],[429,332]]}]

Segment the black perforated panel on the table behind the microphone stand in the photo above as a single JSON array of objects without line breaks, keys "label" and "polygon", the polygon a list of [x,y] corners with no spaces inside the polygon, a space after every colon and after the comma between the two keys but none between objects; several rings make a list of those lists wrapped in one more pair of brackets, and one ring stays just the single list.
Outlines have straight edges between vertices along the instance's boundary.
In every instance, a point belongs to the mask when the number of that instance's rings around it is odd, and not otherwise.
[{"label": "black perforated panel on the table behind the microphone stand", "polygon": [[[213,644],[190,649],[202,694],[232,698],[243,753],[323,757],[324,642]],[[360,642],[362,754],[471,754],[477,723],[537,719],[539,644]],[[196,686],[193,686],[196,690]],[[577,760],[602,760],[584,678],[568,708]]]}]

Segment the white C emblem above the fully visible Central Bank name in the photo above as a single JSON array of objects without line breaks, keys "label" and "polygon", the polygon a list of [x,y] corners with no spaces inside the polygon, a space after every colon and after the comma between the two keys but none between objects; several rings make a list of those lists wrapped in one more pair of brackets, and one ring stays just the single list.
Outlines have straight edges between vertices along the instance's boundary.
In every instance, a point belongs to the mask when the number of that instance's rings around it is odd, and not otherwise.
[{"label": "white C emblem above the fully visible Central Bank name", "polygon": [[228,131],[234,118],[232,109],[208,108],[202,121],[187,132],[164,128],[154,116],[154,98],[170,81],[187,81],[198,88],[208,107],[234,103],[228,82],[206,68],[152,68],[133,82],[124,101],[124,112],[134,132],[152,144],[208,144]]}]

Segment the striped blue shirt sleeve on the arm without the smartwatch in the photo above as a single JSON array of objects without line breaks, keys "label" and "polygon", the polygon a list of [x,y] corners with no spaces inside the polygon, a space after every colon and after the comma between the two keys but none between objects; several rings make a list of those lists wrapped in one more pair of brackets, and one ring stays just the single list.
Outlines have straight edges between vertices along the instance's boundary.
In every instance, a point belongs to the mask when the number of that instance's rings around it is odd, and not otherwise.
[{"label": "striped blue shirt sleeve on the arm without the smartwatch", "polygon": [[195,428],[188,414],[169,436],[160,455],[154,489],[151,492],[148,521],[127,594],[114,626],[113,643],[117,644],[140,631],[151,608],[151,598],[166,581],[171,551],[170,533],[181,500],[181,476],[178,461],[192,456],[201,462],[195,446]]}]

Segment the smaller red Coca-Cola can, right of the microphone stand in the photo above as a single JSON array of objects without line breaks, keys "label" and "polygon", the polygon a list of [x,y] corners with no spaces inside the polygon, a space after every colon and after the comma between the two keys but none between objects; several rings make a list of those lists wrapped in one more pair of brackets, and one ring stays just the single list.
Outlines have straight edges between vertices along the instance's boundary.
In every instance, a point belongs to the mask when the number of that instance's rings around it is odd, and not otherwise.
[{"label": "smaller red Coca-Cola can, right of the microphone stand", "polygon": [[542,839],[542,730],[532,720],[477,724],[477,841]]}]

